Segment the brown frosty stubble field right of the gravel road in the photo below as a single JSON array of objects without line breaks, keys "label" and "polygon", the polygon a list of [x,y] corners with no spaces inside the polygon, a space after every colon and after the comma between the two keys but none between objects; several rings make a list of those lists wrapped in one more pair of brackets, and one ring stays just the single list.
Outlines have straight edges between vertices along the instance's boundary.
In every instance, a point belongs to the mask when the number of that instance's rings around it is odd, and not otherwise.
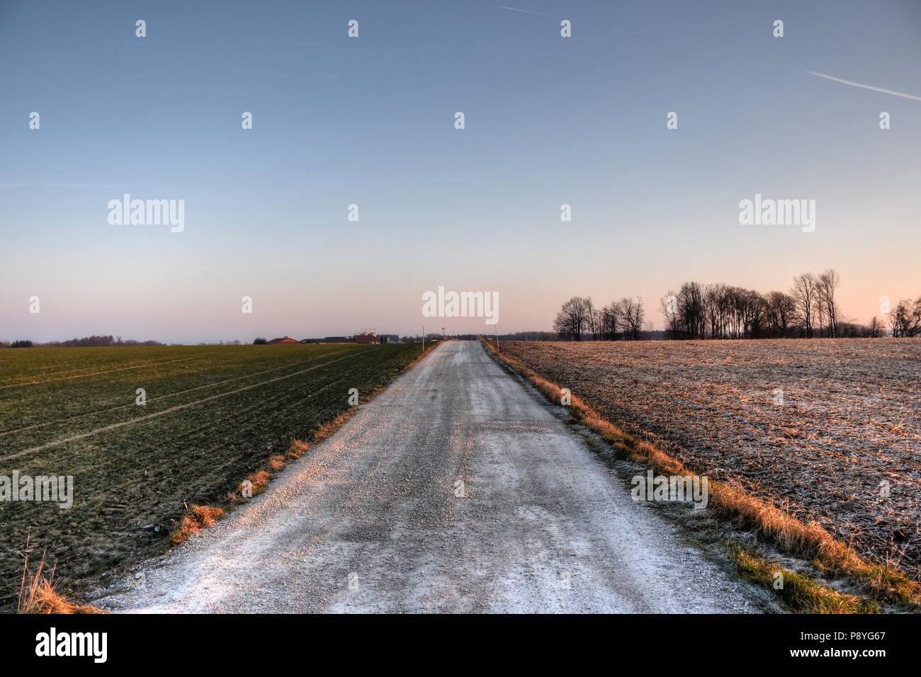
[{"label": "brown frosty stubble field right of the gravel road", "polygon": [[[504,342],[697,473],[921,564],[921,340]],[[887,496],[888,495],[888,496]]]}]

